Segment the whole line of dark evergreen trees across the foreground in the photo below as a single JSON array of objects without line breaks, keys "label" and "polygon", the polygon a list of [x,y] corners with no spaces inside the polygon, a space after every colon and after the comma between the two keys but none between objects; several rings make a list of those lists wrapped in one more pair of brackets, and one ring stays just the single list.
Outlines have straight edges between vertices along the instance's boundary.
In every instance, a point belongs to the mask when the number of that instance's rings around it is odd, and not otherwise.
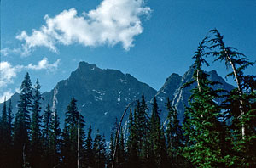
[{"label": "whole line of dark evergreen trees across the foreground", "polygon": [[[207,58],[224,62],[236,82],[228,92],[213,89],[222,84],[210,81],[204,66]],[[159,109],[156,98],[148,108],[144,95],[129,109],[129,118],[117,135],[119,120],[113,124],[110,139],[85,121],[72,98],[60,127],[58,112],[47,106],[39,81],[34,89],[27,73],[20,86],[20,101],[15,117],[12,104],[3,103],[0,118],[0,167],[253,167],[256,166],[256,76],[244,74],[253,66],[236,48],[227,47],[218,30],[210,31],[195,55],[189,106],[183,123],[167,98]],[[219,104],[218,99],[222,102]],[[43,112],[43,115],[41,115]],[[160,113],[168,113],[164,122]],[[118,141],[116,141],[116,137]],[[116,154],[113,157],[113,154]]]}]

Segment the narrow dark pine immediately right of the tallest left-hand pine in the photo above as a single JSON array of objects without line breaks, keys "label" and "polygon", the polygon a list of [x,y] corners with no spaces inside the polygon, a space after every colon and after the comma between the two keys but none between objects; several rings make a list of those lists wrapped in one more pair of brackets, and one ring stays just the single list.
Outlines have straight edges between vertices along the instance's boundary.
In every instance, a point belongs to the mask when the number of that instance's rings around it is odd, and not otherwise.
[{"label": "narrow dark pine immediately right of the tallest left-hand pine", "polygon": [[41,134],[41,100],[40,84],[37,79],[35,87],[35,95],[32,104],[32,123],[31,123],[31,166],[39,167],[38,163],[42,160],[42,134]]}]

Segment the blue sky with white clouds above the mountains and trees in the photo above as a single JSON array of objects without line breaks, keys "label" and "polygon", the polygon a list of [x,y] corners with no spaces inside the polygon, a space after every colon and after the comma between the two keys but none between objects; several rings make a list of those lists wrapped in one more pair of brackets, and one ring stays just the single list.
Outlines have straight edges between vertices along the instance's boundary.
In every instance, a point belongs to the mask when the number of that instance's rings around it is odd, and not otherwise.
[{"label": "blue sky with white clouds above the mountains and trees", "polygon": [[[189,69],[214,28],[255,61],[255,8],[256,0],[2,0],[0,102],[19,92],[26,72],[46,92],[80,61],[158,90],[172,73]],[[223,63],[209,61],[206,70],[228,74]]]}]

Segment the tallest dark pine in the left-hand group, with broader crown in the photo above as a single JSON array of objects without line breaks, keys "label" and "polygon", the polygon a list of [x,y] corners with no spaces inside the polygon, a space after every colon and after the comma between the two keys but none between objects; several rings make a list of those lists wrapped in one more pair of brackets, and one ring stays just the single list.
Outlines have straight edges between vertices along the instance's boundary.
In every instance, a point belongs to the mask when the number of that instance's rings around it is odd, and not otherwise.
[{"label": "tallest dark pine in the left-hand group, with broader crown", "polygon": [[[24,163],[23,153],[27,154],[29,145],[29,133],[31,126],[30,113],[32,111],[32,83],[30,76],[26,73],[20,86],[20,101],[18,112],[15,115],[14,123],[14,154],[15,166],[21,167]],[[25,147],[25,151],[23,151]]]}]

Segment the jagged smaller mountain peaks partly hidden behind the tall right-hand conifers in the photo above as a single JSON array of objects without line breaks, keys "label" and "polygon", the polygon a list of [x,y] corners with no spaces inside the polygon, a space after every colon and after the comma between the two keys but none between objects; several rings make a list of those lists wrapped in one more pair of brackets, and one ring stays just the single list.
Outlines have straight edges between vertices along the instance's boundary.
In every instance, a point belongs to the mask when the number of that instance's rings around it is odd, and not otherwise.
[{"label": "jagged smaller mountain peaks partly hidden behind the tall right-hand conifers", "polygon": [[[183,76],[179,76],[175,73],[172,73],[172,75],[166,79],[166,82],[163,85],[163,87],[161,87],[160,90],[156,93],[155,97],[158,101],[160,109],[162,109],[160,115],[163,121],[166,119],[166,116],[168,115],[165,110],[166,98],[168,97],[170,98],[170,100],[172,100],[172,106],[174,106],[177,109],[178,119],[181,122],[183,121],[183,113],[185,107],[189,106],[188,100],[189,97],[191,96],[190,90],[196,86],[196,83],[185,88],[183,88],[183,85],[186,82],[193,80],[193,73],[193,66],[190,66],[189,70],[186,71]],[[234,87],[229,83],[225,82],[221,76],[218,76],[216,70],[207,72],[207,75],[208,80],[218,81],[220,83],[218,85],[215,85],[213,89],[217,90],[222,88],[226,91],[231,91],[232,89],[234,89]],[[217,99],[216,101],[218,102],[218,104],[220,104],[222,102],[222,99]],[[152,103],[153,99],[151,99],[150,102]]]}]

